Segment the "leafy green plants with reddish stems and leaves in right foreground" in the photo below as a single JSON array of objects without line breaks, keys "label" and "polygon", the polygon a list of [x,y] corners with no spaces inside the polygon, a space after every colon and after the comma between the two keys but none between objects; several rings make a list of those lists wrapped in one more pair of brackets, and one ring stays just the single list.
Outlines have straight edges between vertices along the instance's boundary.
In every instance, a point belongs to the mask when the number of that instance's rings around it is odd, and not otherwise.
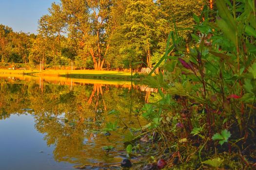
[{"label": "leafy green plants with reddish stems and leaves in right foreground", "polygon": [[[164,72],[152,76],[155,67],[144,81],[158,88],[161,96],[141,109],[148,121],[144,128],[157,132],[164,146],[177,143],[177,152],[188,147],[185,143],[198,144],[199,157],[203,150],[209,154],[214,151],[210,140],[220,145],[238,141],[237,149],[233,148],[237,152],[244,145],[241,136],[249,146],[256,134],[252,130],[256,121],[255,9],[249,0],[217,0],[216,5],[216,11],[205,6],[201,14],[195,13],[193,28],[182,27],[169,34],[166,52],[156,65],[165,61]],[[192,39],[187,39],[190,31]],[[217,153],[221,150],[215,149]],[[203,163],[217,168],[221,162],[213,159]]]}]

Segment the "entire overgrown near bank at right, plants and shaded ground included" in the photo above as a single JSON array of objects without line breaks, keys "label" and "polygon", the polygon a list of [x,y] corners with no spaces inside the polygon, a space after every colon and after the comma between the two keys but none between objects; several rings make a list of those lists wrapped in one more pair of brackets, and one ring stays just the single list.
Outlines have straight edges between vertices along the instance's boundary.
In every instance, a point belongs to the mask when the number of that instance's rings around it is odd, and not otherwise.
[{"label": "entire overgrown near bank at right, plants and shaded ground included", "polygon": [[144,81],[161,99],[135,112],[148,124],[125,135],[127,153],[157,151],[144,170],[255,169],[255,2],[216,0],[194,19],[192,38],[171,32],[164,72]]}]

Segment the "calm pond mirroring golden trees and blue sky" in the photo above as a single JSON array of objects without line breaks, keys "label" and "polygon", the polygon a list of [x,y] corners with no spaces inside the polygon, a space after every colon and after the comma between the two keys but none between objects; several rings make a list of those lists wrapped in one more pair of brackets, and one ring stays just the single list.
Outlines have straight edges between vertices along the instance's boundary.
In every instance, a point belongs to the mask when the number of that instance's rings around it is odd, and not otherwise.
[{"label": "calm pond mirroring golden trees and blue sky", "polygon": [[[139,128],[144,120],[135,110],[148,102],[147,89],[130,82],[1,77],[0,170],[118,169],[126,156],[123,137],[102,129],[116,120],[124,131],[125,125]],[[113,109],[119,118],[108,114]]]}]

